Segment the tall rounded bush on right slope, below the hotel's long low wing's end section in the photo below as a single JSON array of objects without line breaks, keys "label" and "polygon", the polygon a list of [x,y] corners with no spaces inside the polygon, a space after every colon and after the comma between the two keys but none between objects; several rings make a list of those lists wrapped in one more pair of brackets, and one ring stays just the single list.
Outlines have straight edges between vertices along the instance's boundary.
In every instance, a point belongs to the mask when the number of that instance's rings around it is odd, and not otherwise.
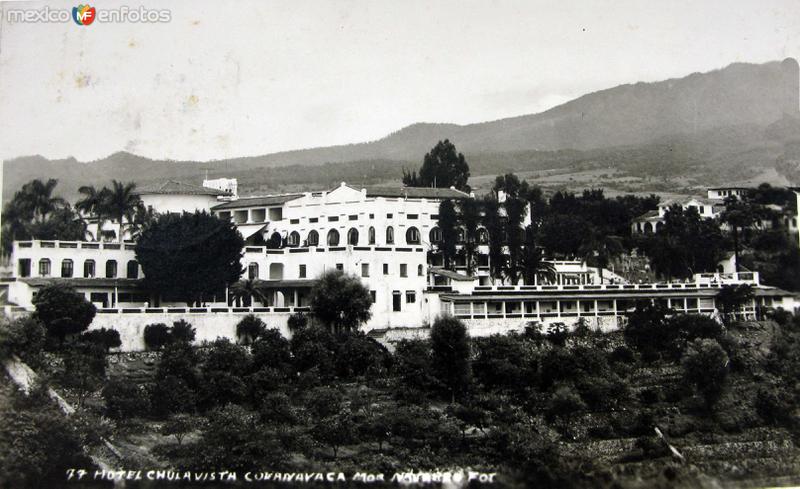
[{"label": "tall rounded bush on right slope, below the hotel's long low wing's end section", "polygon": [[728,354],[716,340],[699,339],[688,345],[681,365],[684,379],[697,388],[711,409],[728,377]]}]

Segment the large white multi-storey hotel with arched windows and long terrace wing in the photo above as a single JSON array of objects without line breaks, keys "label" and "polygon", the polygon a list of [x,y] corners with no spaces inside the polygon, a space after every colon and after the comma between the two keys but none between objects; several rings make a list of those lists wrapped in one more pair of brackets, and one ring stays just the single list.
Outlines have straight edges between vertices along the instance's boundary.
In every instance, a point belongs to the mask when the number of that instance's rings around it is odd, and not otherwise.
[{"label": "large white multi-storey hotel with arched windows and long terrace wing", "polygon": [[760,307],[795,307],[793,294],[760,284],[757,272],[703,274],[689,283],[601,283],[595,269],[561,261],[555,262],[555,283],[523,285],[493,284],[485,257],[473,277],[463,267],[443,270],[435,253],[439,204],[473,198],[454,189],[342,183],[322,192],[230,198],[217,189],[167,182],[140,194],[156,211],[207,210],[231,219],[246,242],[242,278],[262,281],[272,290],[268,300],[245,307],[226,291],[203,307],[167,303],[141,288],[133,243],[21,241],[14,243],[13,275],[0,283],[14,304],[7,312],[32,310],[39,288],[66,282],[98,307],[92,327],[120,330],[123,349],[143,346],[146,324],[178,319],[195,325],[198,340],[233,336],[235,324],[250,313],[286,331],[290,314],[309,310],[315,277],[330,269],[361,278],[374,301],[364,329],[387,339],[425,331],[442,313],[463,319],[473,335],[520,331],[531,323],[570,325],[581,318],[610,329],[638,300],[713,313],[716,293],[726,283],[756,287],[744,315],[755,316]]}]

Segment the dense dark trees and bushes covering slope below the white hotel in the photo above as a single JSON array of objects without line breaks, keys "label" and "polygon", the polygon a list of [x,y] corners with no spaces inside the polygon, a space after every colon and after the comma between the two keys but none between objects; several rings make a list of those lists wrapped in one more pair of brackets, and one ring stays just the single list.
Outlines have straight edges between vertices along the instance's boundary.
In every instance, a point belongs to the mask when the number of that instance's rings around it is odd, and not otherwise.
[{"label": "dense dark trees and bushes covering slope below the white hotel", "polygon": [[[392,352],[361,332],[297,321],[286,339],[256,324],[242,328],[248,346],[218,339],[195,348],[191,335],[178,334],[144,370],[135,357],[130,367],[108,366],[105,350],[85,339],[55,357],[43,353],[41,341],[20,339],[45,335],[35,320],[5,324],[0,344],[52,372],[83,416],[112,420],[94,431],[150,443],[151,454],[126,455],[126,467],[387,474],[470,467],[497,472],[513,487],[628,486],[637,477],[649,486],[691,485],[785,470],[713,472],[689,449],[697,440],[745,436],[798,440],[800,318],[775,320],[774,334],[763,336],[769,330],[641,304],[620,334],[556,325],[469,338],[459,321],[442,318],[430,339],[401,341]],[[754,331],[766,354],[752,346]],[[600,448],[613,440],[612,452]],[[673,458],[670,446],[689,463]],[[64,454],[73,455],[80,451]],[[14,463],[10,457],[0,464]]]}]

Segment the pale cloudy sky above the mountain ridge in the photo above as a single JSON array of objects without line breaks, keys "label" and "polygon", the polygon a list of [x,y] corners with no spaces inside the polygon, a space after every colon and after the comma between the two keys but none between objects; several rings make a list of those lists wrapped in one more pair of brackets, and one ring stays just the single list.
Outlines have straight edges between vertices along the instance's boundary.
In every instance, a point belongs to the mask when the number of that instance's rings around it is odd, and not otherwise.
[{"label": "pale cloudy sky above the mountain ridge", "polygon": [[213,160],[536,113],[585,93],[800,56],[800,2],[104,1],[169,22],[10,22],[0,158]]}]

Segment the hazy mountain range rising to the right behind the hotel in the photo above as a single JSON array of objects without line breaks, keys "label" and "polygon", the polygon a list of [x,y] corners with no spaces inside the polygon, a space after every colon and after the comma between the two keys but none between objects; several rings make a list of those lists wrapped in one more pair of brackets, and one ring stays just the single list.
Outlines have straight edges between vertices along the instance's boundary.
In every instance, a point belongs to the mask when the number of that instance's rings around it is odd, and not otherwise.
[{"label": "hazy mountain range rising to the right behind the hotel", "polygon": [[[417,123],[377,141],[207,162],[152,160],[126,152],[79,162],[25,156],[5,161],[6,199],[33,178],[80,185],[137,183],[204,174],[235,176],[243,193],[397,181],[450,139],[473,175],[612,168],[632,175],[691,177],[700,184],[757,178],[764,169],[800,182],[800,69],[792,58],[734,63],[708,73],[593,92],[538,114],[467,125]],[[314,166],[314,171],[298,171]],[[720,173],[722,171],[722,173]]]}]

